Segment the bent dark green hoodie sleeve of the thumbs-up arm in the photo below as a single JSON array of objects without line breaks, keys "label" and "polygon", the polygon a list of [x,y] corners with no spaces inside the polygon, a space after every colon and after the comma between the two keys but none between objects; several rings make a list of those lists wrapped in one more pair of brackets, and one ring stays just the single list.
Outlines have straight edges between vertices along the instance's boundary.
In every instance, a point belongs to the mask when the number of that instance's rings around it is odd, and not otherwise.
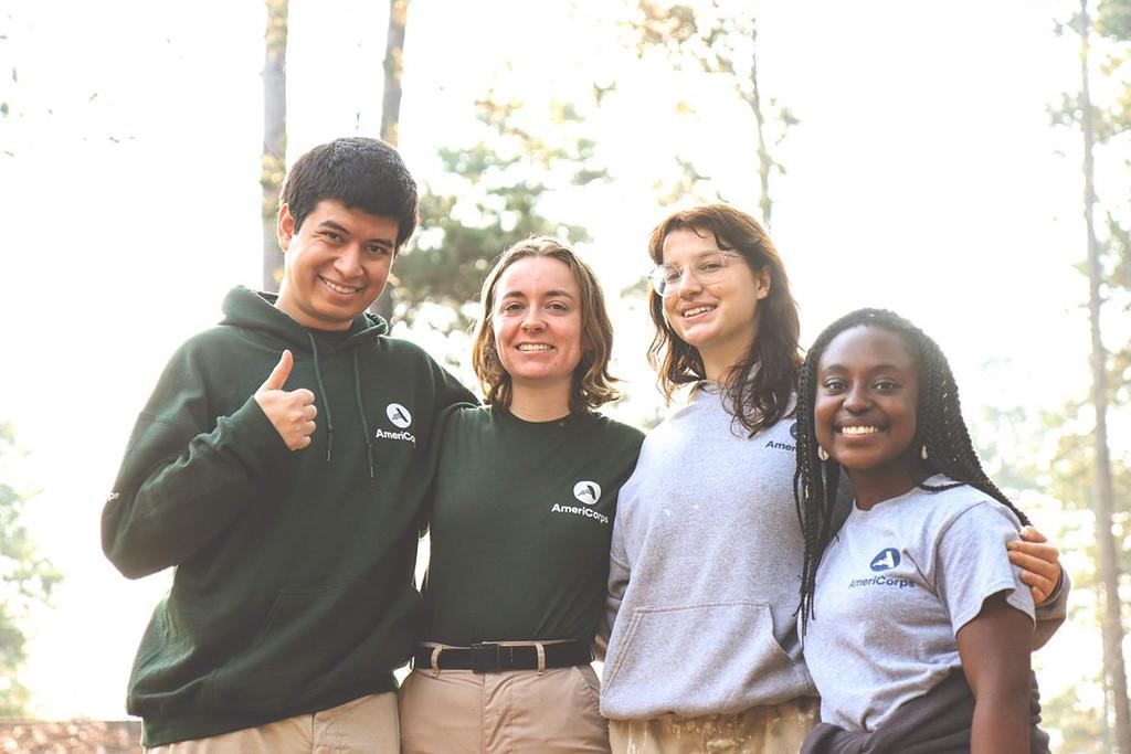
[{"label": "bent dark green hoodie sleeve of the thumbs-up arm", "polygon": [[204,372],[189,346],[170,361],[103,509],[103,552],[128,578],[199,552],[253,504],[290,452],[254,398],[217,416]]}]

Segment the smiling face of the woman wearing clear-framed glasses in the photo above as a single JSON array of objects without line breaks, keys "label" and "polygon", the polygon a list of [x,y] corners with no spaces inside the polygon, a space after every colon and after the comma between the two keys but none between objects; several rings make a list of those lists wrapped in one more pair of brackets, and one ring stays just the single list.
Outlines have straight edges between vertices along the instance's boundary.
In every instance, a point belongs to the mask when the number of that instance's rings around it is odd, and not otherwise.
[{"label": "smiling face of the woman wearing clear-framed glasses", "polygon": [[[705,251],[725,244],[693,227],[672,231],[664,239],[664,265],[685,268]],[[664,320],[675,335],[699,352],[709,380],[718,380],[739,364],[758,335],[758,302],[769,295],[769,271],[754,271],[742,259],[731,259],[714,280],[703,283],[685,270],[663,300]]]}]

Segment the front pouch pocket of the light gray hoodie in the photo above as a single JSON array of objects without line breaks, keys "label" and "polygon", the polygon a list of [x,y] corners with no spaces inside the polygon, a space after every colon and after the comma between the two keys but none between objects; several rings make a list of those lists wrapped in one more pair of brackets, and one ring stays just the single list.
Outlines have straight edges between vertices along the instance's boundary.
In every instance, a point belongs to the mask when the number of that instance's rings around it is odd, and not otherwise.
[{"label": "front pouch pocket of the light gray hoodie", "polygon": [[606,717],[728,713],[812,693],[804,665],[774,638],[766,603],[640,607],[616,639],[603,684]]}]

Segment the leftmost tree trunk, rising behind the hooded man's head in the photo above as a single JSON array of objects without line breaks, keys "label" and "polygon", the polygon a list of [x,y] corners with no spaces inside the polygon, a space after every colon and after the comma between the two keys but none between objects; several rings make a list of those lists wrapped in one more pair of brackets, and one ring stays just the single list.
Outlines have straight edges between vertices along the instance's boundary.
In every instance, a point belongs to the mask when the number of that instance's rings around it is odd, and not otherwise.
[{"label": "leftmost tree trunk, rising behind the hooded man's head", "polygon": [[267,0],[264,154],[259,173],[264,199],[264,291],[278,291],[283,279],[283,250],[275,233],[275,218],[286,174],[286,24],[287,0]]}]

